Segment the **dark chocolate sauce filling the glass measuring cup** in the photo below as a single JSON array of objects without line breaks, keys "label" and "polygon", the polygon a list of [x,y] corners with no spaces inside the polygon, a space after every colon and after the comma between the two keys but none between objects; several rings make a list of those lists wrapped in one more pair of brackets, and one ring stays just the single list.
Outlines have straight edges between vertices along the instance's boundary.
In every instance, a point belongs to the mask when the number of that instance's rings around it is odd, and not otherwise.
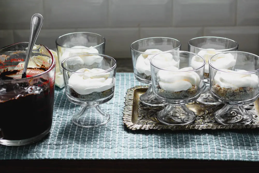
[{"label": "dark chocolate sauce filling the glass measuring cup", "polygon": [[54,86],[50,85],[54,84],[42,78],[34,85],[0,82],[0,138],[24,140],[51,128]]}]

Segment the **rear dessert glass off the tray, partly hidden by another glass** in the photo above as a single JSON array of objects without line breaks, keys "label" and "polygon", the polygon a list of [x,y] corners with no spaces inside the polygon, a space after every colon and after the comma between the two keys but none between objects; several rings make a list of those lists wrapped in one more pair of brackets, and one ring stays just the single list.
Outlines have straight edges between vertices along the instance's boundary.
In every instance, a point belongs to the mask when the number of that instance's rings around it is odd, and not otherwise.
[{"label": "rear dessert glass off the tray, partly hidden by another glass", "polygon": [[[105,54],[105,38],[99,34],[91,32],[68,33],[56,39],[56,47],[60,65],[59,68],[62,73],[61,63],[68,57],[86,53]],[[88,61],[88,64],[98,64],[98,59],[96,60],[97,62]]]}]

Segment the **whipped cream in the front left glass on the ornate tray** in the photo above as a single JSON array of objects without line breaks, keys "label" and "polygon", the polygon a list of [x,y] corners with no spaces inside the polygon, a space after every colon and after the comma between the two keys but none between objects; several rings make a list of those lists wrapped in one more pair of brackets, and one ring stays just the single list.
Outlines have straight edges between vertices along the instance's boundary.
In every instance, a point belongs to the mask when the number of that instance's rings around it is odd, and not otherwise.
[{"label": "whipped cream in the front left glass on the ornate tray", "polygon": [[[173,70],[173,71],[165,71]],[[165,91],[178,92],[191,89],[192,86],[202,87],[202,81],[196,72],[184,72],[193,70],[192,67],[178,69],[177,67],[166,67],[157,72],[159,86]]]}]

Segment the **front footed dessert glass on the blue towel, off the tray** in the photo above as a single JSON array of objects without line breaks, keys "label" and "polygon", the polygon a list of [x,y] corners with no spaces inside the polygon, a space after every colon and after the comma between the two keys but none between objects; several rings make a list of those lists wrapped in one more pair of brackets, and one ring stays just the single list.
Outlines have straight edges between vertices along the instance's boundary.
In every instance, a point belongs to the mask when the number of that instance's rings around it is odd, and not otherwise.
[{"label": "front footed dessert glass on the blue towel, off the tray", "polygon": [[[80,127],[101,126],[110,120],[110,115],[99,105],[113,98],[116,61],[102,54],[79,56],[66,58],[61,64],[68,100],[81,105],[81,109],[74,114],[72,121]],[[91,60],[92,56],[100,59],[93,68],[83,63]]]}]

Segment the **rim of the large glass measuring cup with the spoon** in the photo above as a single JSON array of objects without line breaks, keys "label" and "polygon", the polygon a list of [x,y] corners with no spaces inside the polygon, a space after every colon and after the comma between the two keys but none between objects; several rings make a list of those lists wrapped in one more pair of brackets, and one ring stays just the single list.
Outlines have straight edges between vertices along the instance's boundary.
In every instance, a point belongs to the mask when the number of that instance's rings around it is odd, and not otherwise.
[{"label": "rim of the large glass measuring cup with the spoon", "polygon": [[[21,44],[21,43],[28,43],[28,42],[19,42],[19,43],[15,43],[15,44],[11,44],[9,46],[5,46],[3,48],[7,48],[7,47],[10,47],[10,46],[13,46],[13,45],[16,45],[16,44]],[[28,43],[29,44],[29,43]],[[35,44],[34,44],[35,45]],[[43,44],[39,44],[39,45],[42,45],[43,47],[45,47],[45,49],[48,51],[48,53],[51,55],[51,57],[49,58],[52,58],[52,63],[51,63],[51,66],[48,68],[48,70],[40,73],[40,74],[37,74],[37,75],[34,75],[34,76],[30,76],[28,78],[20,78],[20,79],[7,79],[7,80],[0,80],[0,83],[8,83],[8,82],[21,82],[21,81],[26,81],[26,80],[30,80],[30,79],[34,79],[34,78],[38,78],[46,73],[49,73],[51,70],[54,69],[54,67],[56,66],[56,59],[54,58],[54,55],[53,53]],[[1,48],[1,49],[3,49]],[[37,53],[40,53],[40,52],[37,52]],[[45,54],[46,55],[46,54]],[[47,56],[47,55],[46,55]]]}]

